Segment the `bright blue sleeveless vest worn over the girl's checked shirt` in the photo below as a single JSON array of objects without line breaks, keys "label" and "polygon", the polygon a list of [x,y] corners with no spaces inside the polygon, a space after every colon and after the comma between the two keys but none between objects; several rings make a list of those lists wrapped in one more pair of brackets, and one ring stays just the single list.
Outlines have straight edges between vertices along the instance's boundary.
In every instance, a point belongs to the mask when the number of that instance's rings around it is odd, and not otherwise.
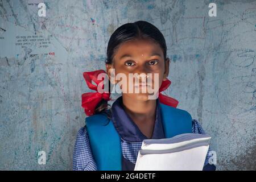
[{"label": "bright blue sleeveless vest worn over the girl's checked shirt", "polygon": [[[166,138],[192,133],[191,115],[181,109],[160,104]],[[94,114],[85,119],[90,147],[99,171],[122,170],[121,138],[113,122],[105,114]]]}]

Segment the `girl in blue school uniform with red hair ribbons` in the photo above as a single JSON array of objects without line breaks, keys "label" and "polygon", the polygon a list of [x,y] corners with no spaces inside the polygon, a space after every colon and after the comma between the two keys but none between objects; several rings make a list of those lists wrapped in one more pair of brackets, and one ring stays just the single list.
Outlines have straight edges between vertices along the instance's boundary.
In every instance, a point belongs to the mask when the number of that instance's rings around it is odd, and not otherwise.
[{"label": "girl in blue school uniform with red hair ribbons", "polygon": [[[82,107],[89,117],[77,134],[73,170],[134,170],[144,139],[169,138],[182,133],[204,134],[196,119],[187,111],[175,108],[178,102],[174,98],[160,93],[171,84],[167,78],[170,59],[166,54],[166,40],[151,23],[126,23],[114,31],[107,49],[109,78],[112,69],[115,75],[123,73],[127,77],[129,73],[157,74],[158,78],[152,77],[152,85],[159,82],[159,97],[148,99],[151,93],[148,89],[146,93],[141,92],[143,84],[124,84],[122,90],[139,87],[140,92],[122,92],[109,108],[111,92],[82,94]],[[98,91],[92,80],[99,84],[96,78],[103,72],[84,72],[89,88]],[[112,84],[117,82],[114,80]],[[209,151],[203,170],[216,169],[209,164]]]}]

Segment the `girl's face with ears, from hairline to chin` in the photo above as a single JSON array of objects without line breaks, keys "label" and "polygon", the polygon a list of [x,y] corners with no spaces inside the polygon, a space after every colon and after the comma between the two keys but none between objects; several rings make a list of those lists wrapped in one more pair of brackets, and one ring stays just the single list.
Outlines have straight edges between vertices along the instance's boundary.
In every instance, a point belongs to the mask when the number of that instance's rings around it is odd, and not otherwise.
[{"label": "girl's face with ears, from hairline to chin", "polygon": [[[136,39],[121,44],[115,52],[112,64],[106,64],[106,70],[109,78],[111,76],[110,68],[114,69],[115,76],[117,76],[118,73],[123,73],[126,76],[126,84],[123,84],[124,82],[122,82],[122,84],[120,84],[121,82],[119,83],[122,91],[127,91],[126,93],[122,92],[123,96],[127,96],[135,100],[146,101],[148,100],[148,96],[154,93],[148,93],[147,86],[144,86],[145,88],[143,88],[143,86],[138,85],[143,85],[145,79],[150,79],[152,80],[152,89],[158,90],[162,81],[168,76],[169,64],[170,60],[168,58],[166,61],[164,60],[163,50],[159,44],[150,39]],[[131,78],[133,79],[133,84],[131,84],[131,80],[129,80],[129,73],[144,73],[144,76],[151,73],[152,76],[146,78],[143,77],[143,74],[141,77],[134,75],[134,77]],[[155,74],[158,74],[158,79],[156,80],[154,76]],[[139,79],[139,82],[137,82],[138,84],[135,82],[135,77]],[[119,79],[116,79],[112,84],[116,84],[119,81]],[[158,82],[157,89],[154,88],[155,82]],[[133,88],[133,91],[135,88],[139,88],[139,93],[130,93],[129,88],[131,89],[131,87]],[[146,92],[142,92],[142,89],[146,90]]]}]

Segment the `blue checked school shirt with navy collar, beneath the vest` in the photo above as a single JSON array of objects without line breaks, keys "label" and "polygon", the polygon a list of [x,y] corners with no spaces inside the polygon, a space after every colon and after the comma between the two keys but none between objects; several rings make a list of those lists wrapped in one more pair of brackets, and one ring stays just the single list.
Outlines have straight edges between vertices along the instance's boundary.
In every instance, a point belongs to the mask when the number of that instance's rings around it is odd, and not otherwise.
[{"label": "blue checked school shirt with navy collar, beneath the vest", "polygon": [[[142,141],[148,138],[141,132],[141,130],[139,130],[139,127],[123,109],[122,96],[115,100],[112,105],[111,121],[121,138],[122,170],[133,171],[138,152],[141,149]],[[205,134],[203,128],[196,119],[192,119],[191,122],[192,133]],[[155,125],[151,139],[161,138],[166,137],[164,135],[162,115],[160,113],[160,102],[159,99],[157,99]],[[211,165],[208,162],[210,158],[210,150],[209,147],[203,170],[216,169],[213,164]],[[90,148],[89,135],[86,126],[82,127],[77,134],[73,151],[73,170],[97,170],[97,164]]]}]

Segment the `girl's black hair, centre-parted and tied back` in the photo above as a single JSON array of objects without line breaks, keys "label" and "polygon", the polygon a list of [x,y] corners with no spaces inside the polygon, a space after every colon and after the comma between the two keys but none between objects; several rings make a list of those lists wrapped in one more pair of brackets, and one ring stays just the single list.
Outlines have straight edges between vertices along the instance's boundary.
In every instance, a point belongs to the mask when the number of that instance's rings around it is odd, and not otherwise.
[{"label": "girl's black hair, centre-parted and tied back", "polygon": [[[166,60],[167,46],[163,34],[153,24],[139,20],[134,23],[123,24],[113,32],[108,43],[106,64],[113,63],[115,52],[122,43],[136,39],[150,39],[153,42],[158,43],[163,49],[164,60]],[[111,117],[111,109],[109,109],[108,101],[106,100],[102,99],[101,102],[96,106],[95,111],[95,114],[105,113],[108,115],[108,117]]]}]

